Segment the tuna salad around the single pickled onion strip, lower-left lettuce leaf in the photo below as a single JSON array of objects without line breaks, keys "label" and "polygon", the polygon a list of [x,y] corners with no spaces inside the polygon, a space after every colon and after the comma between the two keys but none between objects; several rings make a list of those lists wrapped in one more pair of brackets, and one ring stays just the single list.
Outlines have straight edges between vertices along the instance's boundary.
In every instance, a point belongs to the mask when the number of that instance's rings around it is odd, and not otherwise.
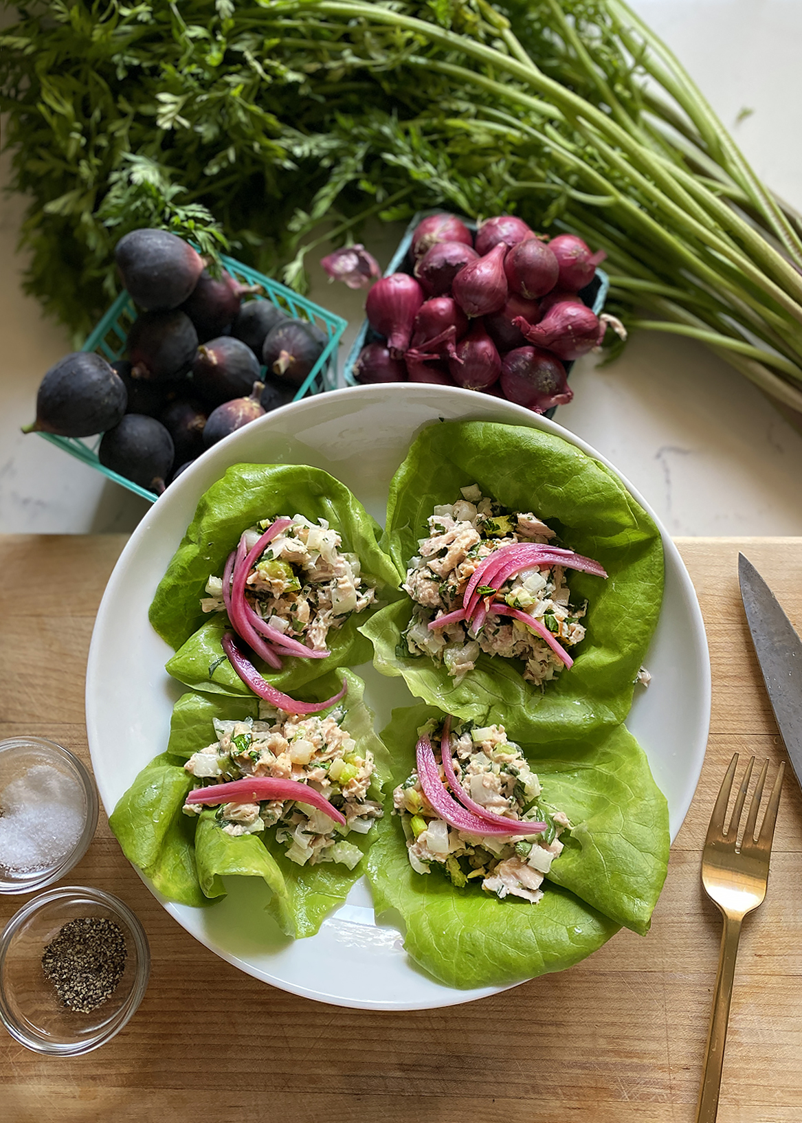
[{"label": "tuna salad around the single pickled onion strip, lower-left lettuce leaf", "polygon": [[[292,798],[220,802],[215,812],[221,829],[234,837],[257,834],[275,828],[276,842],[285,847],[286,857],[299,866],[321,861],[341,862],[349,869],[362,858],[362,850],[343,839],[355,831],[365,834],[382,805],[368,798],[374,774],[373,754],[362,756],[356,742],[340,724],[343,711],[332,710],[325,718],[288,714],[259,703],[259,719],[220,721],[215,719],[218,740],[194,752],[184,765],[198,779],[193,792],[203,787],[212,802],[209,785],[254,779],[294,780],[308,785],[310,798],[339,813],[344,824],[332,820],[318,806]],[[255,783],[254,788],[258,789]],[[270,784],[263,784],[263,788]],[[253,794],[256,794],[254,792]],[[192,793],[190,793],[190,796]],[[322,797],[322,798],[321,798]],[[240,793],[239,798],[243,798]],[[326,802],[323,802],[326,801]],[[206,810],[201,802],[184,804],[185,814]]]}]

